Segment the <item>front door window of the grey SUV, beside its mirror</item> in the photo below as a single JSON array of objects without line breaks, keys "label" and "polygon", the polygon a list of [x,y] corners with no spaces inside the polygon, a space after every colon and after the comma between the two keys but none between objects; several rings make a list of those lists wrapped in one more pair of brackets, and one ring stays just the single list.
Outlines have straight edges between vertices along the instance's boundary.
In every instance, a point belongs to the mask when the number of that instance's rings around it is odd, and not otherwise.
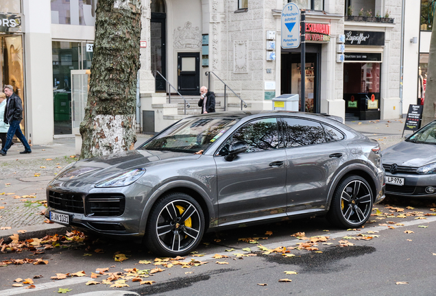
[{"label": "front door window of the grey SUV, beside its mirror", "polygon": [[278,149],[277,119],[259,119],[246,123],[234,132],[227,144],[240,140],[248,145],[245,153]]}]

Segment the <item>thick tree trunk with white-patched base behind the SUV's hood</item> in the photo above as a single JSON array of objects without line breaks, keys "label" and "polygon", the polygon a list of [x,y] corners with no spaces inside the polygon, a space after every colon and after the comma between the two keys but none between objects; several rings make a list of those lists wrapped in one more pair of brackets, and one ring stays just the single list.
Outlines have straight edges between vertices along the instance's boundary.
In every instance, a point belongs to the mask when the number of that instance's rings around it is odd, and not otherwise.
[{"label": "thick tree trunk with white-patched base behind the SUV's hood", "polygon": [[134,149],[141,0],[99,0],[81,158]]}]

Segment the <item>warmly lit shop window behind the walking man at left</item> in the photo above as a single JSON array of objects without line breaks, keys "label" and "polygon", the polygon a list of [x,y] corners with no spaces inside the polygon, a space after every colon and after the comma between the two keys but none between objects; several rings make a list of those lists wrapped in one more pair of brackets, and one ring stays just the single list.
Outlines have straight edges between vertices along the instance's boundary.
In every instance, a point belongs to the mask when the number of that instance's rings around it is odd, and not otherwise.
[{"label": "warmly lit shop window behind the walking man at left", "polygon": [[[0,81],[1,85],[10,84],[14,93],[23,104],[23,120],[20,127],[25,134],[25,103],[23,78],[23,36],[21,34],[0,35]],[[3,92],[3,90],[1,90]]]}]

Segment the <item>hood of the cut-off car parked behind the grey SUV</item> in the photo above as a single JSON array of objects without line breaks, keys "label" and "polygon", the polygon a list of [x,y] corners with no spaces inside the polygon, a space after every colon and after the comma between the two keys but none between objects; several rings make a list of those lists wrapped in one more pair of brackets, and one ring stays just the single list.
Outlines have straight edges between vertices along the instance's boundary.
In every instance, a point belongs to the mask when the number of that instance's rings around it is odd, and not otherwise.
[{"label": "hood of the cut-off car parked behind the grey SUV", "polygon": [[421,167],[436,162],[436,145],[403,141],[382,151],[384,164],[404,167]]}]

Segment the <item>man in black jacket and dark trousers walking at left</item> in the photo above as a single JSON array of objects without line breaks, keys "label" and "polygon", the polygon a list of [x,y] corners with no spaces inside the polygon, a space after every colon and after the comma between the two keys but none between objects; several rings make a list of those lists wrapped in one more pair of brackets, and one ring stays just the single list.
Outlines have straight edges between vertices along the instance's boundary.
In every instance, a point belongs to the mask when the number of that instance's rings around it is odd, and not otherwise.
[{"label": "man in black jacket and dark trousers walking at left", "polygon": [[19,96],[14,94],[14,88],[11,85],[5,85],[4,93],[6,97],[8,97],[8,101],[6,102],[4,122],[9,123],[9,130],[6,136],[5,147],[0,150],[0,155],[5,156],[6,152],[12,145],[12,138],[16,135],[21,143],[24,145],[24,151],[21,151],[21,154],[24,153],[32,153],[30,149],[29,143],[23,132],[21,132],[20,123],[23,120],[23,105],[21,104],[21,99]]}]

